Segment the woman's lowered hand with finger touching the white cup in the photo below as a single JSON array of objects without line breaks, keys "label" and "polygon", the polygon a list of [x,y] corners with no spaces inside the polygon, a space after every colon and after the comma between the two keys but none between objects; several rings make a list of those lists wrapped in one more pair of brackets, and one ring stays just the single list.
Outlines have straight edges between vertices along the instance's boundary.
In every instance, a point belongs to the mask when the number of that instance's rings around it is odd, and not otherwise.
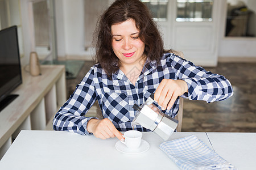
[{"label": "woman's lowered hand with finger touching the white cup", "polygon": [[108,118],[102,120],[92,118],[88,121],[87,130],[89,133],[93,133],[96,138],[108,139],[117,137],[123,141],[123,134],[115,128]]}]

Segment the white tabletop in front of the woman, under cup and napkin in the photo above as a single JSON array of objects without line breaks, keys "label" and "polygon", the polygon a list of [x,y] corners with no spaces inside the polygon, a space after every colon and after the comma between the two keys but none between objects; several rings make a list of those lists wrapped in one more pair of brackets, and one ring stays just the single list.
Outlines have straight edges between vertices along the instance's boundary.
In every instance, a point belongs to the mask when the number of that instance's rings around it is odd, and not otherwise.
[{"label": "white tabletop in front of the woman, under cup and napkin", "polygon": [[[238,169],[256,167],[256,133],[174,133],[170,140],[196,135]],[[67,131],[21,131],[0,161],[0,169],[179,169],[159,145],[155,133],[143,133],[150,144],[143,154],[123,154],[117,138],[98,139]]]}]

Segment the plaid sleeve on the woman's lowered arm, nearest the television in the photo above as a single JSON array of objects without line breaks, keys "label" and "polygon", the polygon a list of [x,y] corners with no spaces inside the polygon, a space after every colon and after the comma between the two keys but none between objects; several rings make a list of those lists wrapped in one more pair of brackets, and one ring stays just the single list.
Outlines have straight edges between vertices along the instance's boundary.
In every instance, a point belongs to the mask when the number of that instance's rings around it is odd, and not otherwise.
[{"label": "plaid sleeve on the woman's lowered arm, nearest the television", "polygon": [[85,117],[85,114],[96,101],[96,92],[94,88],[94,70],[93,67],[76,86],[76,90],[69,97],[66,103],[59,109],[53,118],[54,130],[65,130],[89,135],[87,123],[91,118]]}]

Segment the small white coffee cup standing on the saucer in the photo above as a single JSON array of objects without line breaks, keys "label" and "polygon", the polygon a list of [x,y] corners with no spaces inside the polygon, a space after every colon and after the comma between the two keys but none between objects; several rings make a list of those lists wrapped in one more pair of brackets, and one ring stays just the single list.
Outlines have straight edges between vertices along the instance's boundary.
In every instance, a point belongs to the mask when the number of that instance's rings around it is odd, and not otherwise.
[{"label": "small white coffee cup standing on the saucer", "polygon": [[141,146],[142,133],[138,130],[129,130],[123,134],[125,142],[121,141],[127,148],[135,149]]}]

